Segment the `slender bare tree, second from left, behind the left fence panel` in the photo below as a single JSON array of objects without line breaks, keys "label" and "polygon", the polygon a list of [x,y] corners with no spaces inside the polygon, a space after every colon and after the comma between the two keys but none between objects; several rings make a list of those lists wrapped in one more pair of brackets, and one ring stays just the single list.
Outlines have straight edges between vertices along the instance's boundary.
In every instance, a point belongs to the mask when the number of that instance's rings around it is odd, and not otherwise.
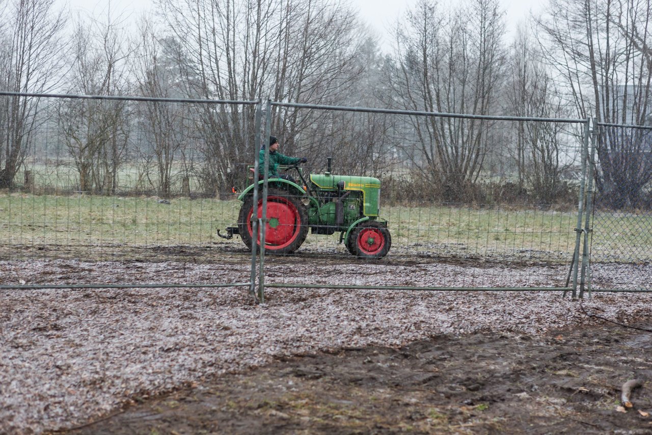
[{"label": "slender bare tree, second from left, behind the left fence panel", "polygon": [[[130,46],[124,22],[79,20],[70,93],[128,95]],[[117,172],[130,134],[129,107],[119,100],[65,100],[59,106],[61,133],[80,175],[80,190],[115,192]]]}]

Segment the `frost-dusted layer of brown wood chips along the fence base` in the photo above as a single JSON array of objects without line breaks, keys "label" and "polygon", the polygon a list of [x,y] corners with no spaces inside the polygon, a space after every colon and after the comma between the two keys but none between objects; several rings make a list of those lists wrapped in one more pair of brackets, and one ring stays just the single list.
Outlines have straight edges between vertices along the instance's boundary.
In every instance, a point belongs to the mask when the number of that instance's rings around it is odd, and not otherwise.
[{"label": "frost-dusted layer of brown wood chips along the fence base", "polygon": [[[297,265],[273,260],[266,282],[433,287],[565,284],[566,266],[471,267],[411,262]],[[596,286],[647,282],[650,266],[594,266]],[[250,265],[0,262],[2,284],[236,283]],[[3,290],[0,432],[69,428],[123,406],[274,357],[477,331],[537,335],[589,322],[560,292],[401,292],[247,287]],[[585,308],[621,322],[652,314],[649,295],[594,293]]]}]

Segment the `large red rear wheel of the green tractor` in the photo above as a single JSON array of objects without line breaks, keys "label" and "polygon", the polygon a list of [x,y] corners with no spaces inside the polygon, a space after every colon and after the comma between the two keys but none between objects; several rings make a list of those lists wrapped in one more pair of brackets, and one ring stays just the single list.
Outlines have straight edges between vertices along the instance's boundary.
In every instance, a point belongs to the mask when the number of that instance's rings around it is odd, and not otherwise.
[{"label": "large red rear wheel of the green tractor", "polygon": [[[254,200],[249,196],[243,203],[238,217],[238,232],[244,245],[251,248]],[[258,200],[257,216],[263,215],[263,200]],[[308,212],[306,206],[285,190],[270,188],[267,192],[267,224],[265,225],[265,252],[291,254],[299,249],[308,235]],[[260,241],[257,246],[260,247]]]}]

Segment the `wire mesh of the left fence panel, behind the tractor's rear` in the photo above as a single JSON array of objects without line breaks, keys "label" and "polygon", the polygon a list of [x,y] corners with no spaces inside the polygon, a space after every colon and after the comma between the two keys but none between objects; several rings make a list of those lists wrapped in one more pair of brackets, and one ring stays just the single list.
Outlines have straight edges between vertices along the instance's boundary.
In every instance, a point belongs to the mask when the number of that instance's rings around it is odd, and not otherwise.
[{"label": "wire mesh of the left fence panel, behind the tractor's rear", "polygon": [[[236,170],[220,155],[230,147],[241,154],[249,149],[210,129],[228,122],[224,113],[254,113],[256,102],[27,97],[48,110],[33,128],[8,123],[0,133],[3,153],[16,155],[1,162],[2,260],[212,265],[220,258],[230,271],[226,278],[191,281],[182,271],[147,281],[253,289],[250,264],[224,249],[216,234],[237,213],[229,179]],[[240,134],[253,142],[253,122],[241,125]],[[52,278],[24,283],[17,276],[13,284],[83,284],[67,283],[65,274]],[[101,279],[86,284],[143,284]]]}]

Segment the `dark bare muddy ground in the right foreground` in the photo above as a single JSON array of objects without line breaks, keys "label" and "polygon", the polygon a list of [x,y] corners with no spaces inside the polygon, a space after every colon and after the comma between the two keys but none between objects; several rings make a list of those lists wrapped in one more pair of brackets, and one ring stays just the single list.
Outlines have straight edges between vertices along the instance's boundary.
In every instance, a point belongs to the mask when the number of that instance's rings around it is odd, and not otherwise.
[{"label": "dark bare muddy ground in the right foreground", "polygon": [[[652,327],[651,322],[636,326]],[[131,406],[68,434],[652,433],[652,335],[591,318],[301,355]],[[621,385],[633,407],[619,408]]]}]

